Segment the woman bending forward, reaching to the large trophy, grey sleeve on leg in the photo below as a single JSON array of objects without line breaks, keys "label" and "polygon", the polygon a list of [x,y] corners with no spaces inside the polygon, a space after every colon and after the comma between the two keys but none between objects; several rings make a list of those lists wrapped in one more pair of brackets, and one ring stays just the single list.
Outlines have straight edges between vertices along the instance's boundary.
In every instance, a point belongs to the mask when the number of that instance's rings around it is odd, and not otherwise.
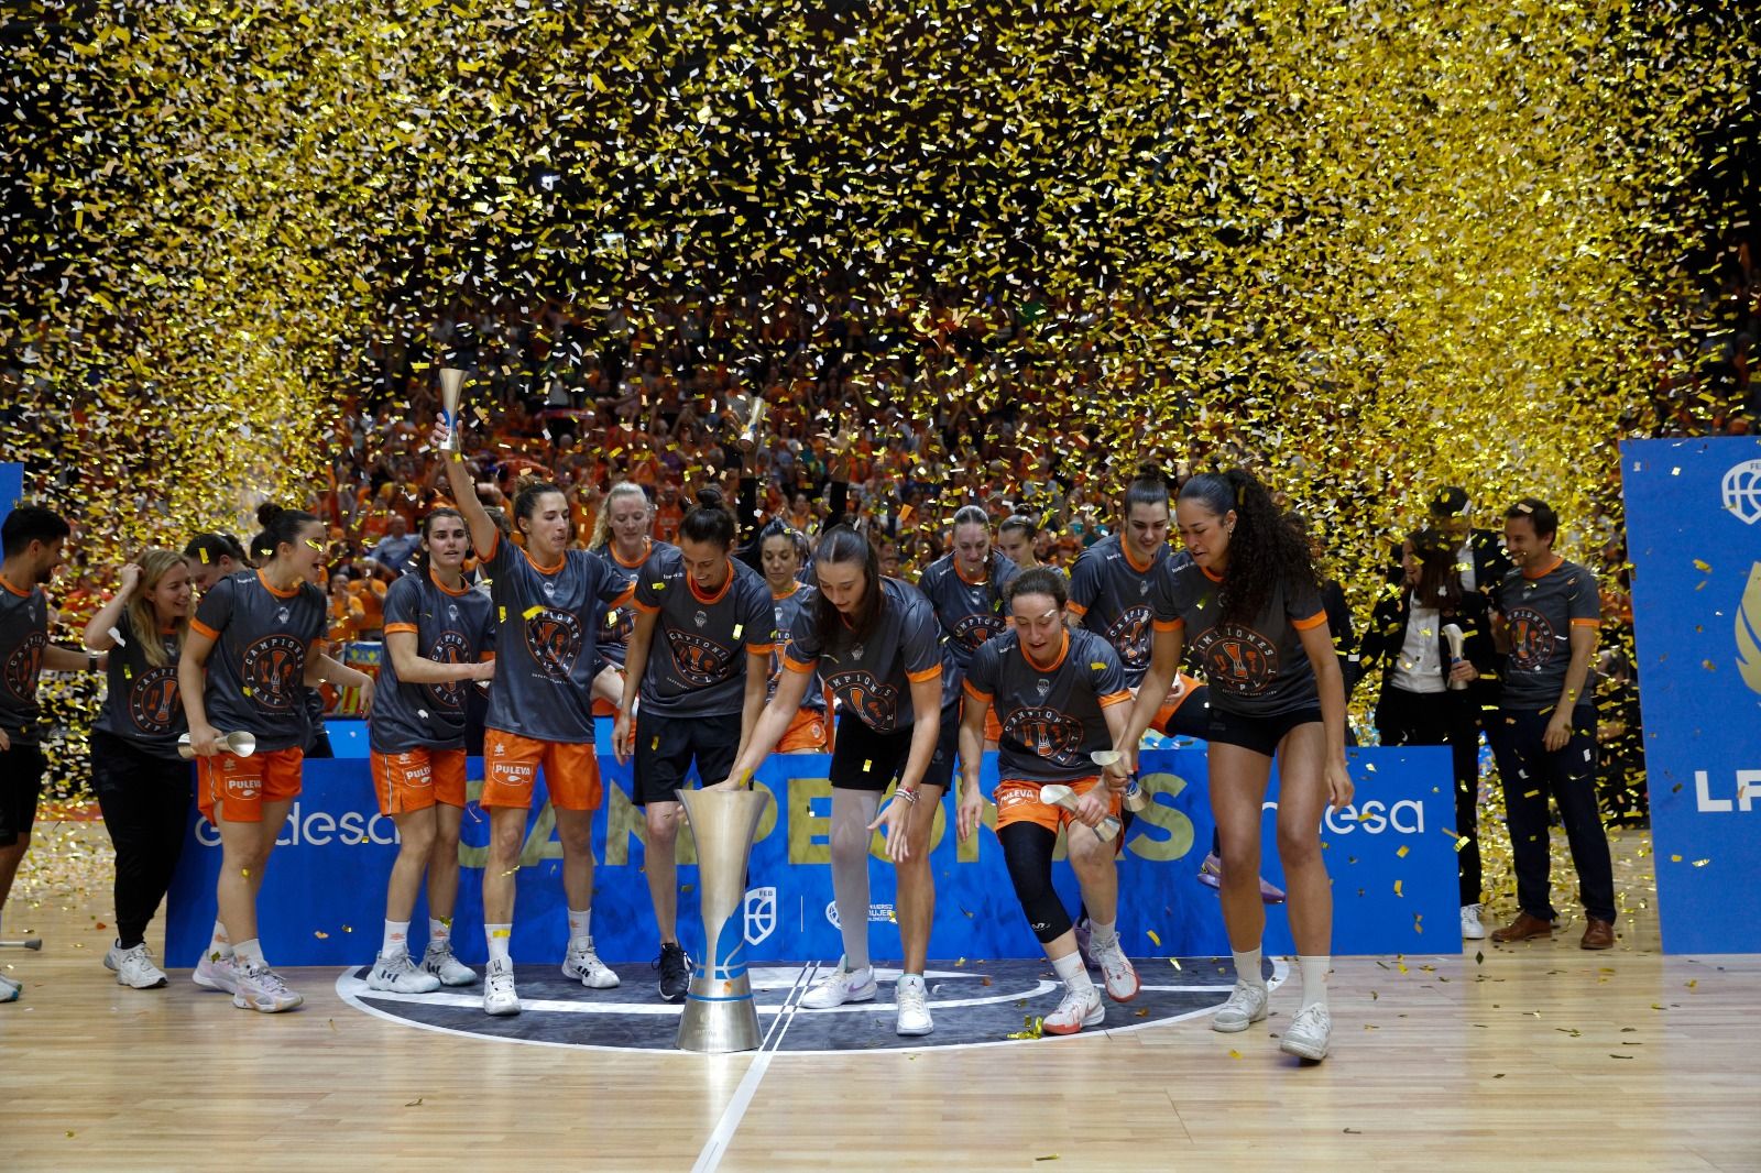
[{"label": "woman bending forward, reaching to the large trophy, grey sleeve on leg", "polygon": [[[844,706],[831,752],[831,888],[844,933],[844,963],[803,999],[810,1009],[875,997],[868,962],[868,840],[886,828],[886,851],[898,868],[898,930],[905,965],[898,979],[903,1036],[930,1034],[923,969],[935,919],[930,830],[946,791],[930,780],[942,713],[942,652],[935,608],[916,586],[880,574],[866,537],[840,525],[814,551],[819,592],[792,632],[777,696],[729,773],[752,775],[801,708],[814,671]],[[879,819],[880,796],[898,778],[893,803]]]}]

